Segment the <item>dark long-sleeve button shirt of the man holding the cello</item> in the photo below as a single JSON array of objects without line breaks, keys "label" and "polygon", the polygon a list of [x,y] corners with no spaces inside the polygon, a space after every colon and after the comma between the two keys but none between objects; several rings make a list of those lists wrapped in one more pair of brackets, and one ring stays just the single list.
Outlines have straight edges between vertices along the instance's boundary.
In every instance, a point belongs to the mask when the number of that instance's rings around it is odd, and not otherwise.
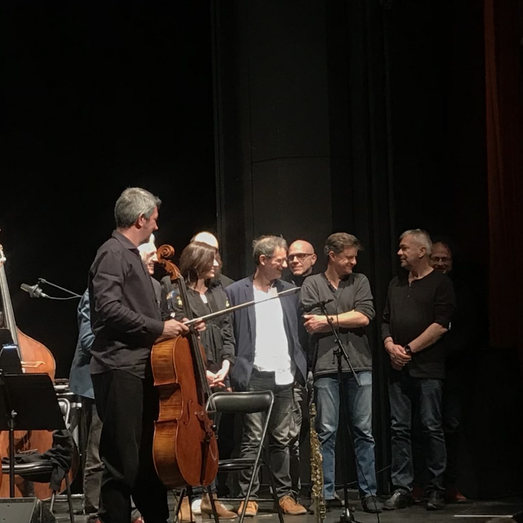
[{"label": "dark long-sleeve button shirt of the man holding the cello", "polygon": [[144,378],[164,324],[140,253],[118,231],[98,249],[89,269],[89,303],[95,334],[91,374],[120,369]]}]

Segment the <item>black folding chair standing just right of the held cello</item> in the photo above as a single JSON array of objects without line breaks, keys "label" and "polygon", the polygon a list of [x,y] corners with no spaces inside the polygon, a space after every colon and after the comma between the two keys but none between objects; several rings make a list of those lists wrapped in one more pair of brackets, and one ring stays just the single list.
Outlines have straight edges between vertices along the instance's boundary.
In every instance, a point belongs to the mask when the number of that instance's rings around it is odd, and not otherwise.
[{"label": "black folding chair standing just right of the held cello", "polygon": [[[283,523],[283,514],[279,504],[278,496],[276,495],[276,485],[274,483],[274,475],[270,467],[269,453],[264,446],[265,436],[267,434],[267,427],[269,424],[269,417],[272,412],[272,405],[274,404],[274,394],[272,391],[255,391],[255,392],[215,392],[211,394],[207,401],[207,411],[209,413],[233,413],[233,414],[252,414],[255,412],[265,413],[265,422],[263,424],[263,431],[259,441],[258,451],[255,458],[231,458],[223,459],[218,462],[218,472],[232,472],[239,470],[250,470],[251,480],[247,488],[245,499],[243,498],[228,498],[224,501],[244,501],[240,521],[243,523],[245,517],[245,509],[247,502],[251,495],[255,475],[259,472],[259,467],[264,466],[269,472],[269,481],[272,491],[271,498],[258,498],[256,501],[273,501],[278,511],[278,518],[280,523]],[[264,452],[264,459],[261,458],[261,452]],[[214,501],[211,493],[211,488],[207,487],[211,499],[211,505],[214,509]]]}]

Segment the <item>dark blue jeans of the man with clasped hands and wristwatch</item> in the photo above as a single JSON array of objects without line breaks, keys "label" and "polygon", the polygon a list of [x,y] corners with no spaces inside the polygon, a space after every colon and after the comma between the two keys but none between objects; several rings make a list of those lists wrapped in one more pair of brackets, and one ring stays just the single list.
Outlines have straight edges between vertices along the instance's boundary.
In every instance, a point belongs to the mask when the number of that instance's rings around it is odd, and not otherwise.
[{"label": "dark blue jeans of the man with clasped hands and wristwatch", "polygon": [[391,407],[391,480],[394,490],[412,491],[412,419],[419,420],[418,435],[426,472],[426,490],[442,491],[447,463],[445,437],[441,424],[443,381],[413,378],[406,373],[389,383]]}]

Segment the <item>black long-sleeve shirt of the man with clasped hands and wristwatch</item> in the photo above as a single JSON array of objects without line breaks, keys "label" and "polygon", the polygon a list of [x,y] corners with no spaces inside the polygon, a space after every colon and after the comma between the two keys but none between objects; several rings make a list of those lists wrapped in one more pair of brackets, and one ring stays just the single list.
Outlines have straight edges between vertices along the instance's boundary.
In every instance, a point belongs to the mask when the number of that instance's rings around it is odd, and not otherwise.
[{"label": "black long-sleeve shirt of the man with clasped hands and wristwatch", "polygon": [[[396,276],[389,284],[383,310],[381,336],[391,336],[394,343],[405,346],[422,334],[429,325],[438,323],[449,328],[456,309],[452,281],[433,270],[424,278],[408,283],[408,273]],[[391,378],[407,372],[415,378],[445,377],[445,344],[443,338],[412,355],[401,371],[392,370]]]}]

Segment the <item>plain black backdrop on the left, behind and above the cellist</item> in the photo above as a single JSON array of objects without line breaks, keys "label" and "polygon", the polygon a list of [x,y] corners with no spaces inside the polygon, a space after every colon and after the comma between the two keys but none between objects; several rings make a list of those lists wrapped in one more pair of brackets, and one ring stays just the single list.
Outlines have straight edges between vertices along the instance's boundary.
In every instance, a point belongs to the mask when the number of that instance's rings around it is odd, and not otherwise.
[{"label": "plain black backdrop on the left, behind and above the cellist", "polygon": [[158,245],[181,251],[214,227],[209,5],[12,2],[1,18],[0,243],[18,327],[63,378],[78,300],[31,299],[20,283],[81,294],[129,186],[164,202]]}]

